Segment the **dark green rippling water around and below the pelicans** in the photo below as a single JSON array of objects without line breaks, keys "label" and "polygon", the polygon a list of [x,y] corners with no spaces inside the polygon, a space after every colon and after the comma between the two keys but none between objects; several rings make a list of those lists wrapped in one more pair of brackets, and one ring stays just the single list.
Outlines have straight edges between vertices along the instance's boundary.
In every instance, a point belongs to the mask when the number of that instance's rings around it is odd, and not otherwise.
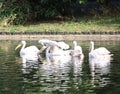
[{"label": "dark green rippling water around and below the pelicans", "polygon": [[[110,66],[90,71],[89,41],[78,41],[85,55],[83,63],[60,58],[49,64],[44,53],[43,64],[22,68],[18,41],[0,41],[0,94],[120,94],[120,41],[95,41],[114,54]],[[67,42],[71,49],[72,42]],[[41,47],[37,41],[28,45]],[[58,59],[58,58],[57,58]]]}]

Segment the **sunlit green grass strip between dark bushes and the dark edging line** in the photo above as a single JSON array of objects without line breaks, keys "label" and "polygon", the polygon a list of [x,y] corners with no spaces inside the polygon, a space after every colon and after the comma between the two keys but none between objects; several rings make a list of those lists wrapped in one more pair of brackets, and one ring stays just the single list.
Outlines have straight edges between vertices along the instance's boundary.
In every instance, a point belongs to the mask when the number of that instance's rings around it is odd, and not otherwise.
[{"label": "sunlit green grass strip between dark bushes and the dark edging line", "polygon": [[120,15],[40,21],[28,25],[0,25],[2,32],[120,32]]}]

